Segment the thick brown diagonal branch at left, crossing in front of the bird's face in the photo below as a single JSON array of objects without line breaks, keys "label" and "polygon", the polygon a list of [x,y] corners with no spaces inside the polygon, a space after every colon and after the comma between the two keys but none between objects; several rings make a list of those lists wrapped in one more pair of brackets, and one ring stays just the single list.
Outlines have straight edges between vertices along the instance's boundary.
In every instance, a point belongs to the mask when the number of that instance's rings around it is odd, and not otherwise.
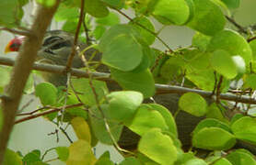
[{"label": "thick brown diagonal branch at left, crossing in front of the bird's face", "polygon": [[11,100],[2,100],[4,125],[0,133],[0,164],[2,164],[4,160],[7,142],[14,126],[18,104],[20,103],[23,89],[29,78],[29,72],[36,59],[38,49],[41,48],[44,33],[50,25],[53,14],[59,6],[59,3],[60,0],[57,0],[52,7],[38,7],[37,15],[30,28],[32,35],[25,39],[23,49],[19,51],[17,56],[10,82],[6,87],[6,95],[8,95]]}]

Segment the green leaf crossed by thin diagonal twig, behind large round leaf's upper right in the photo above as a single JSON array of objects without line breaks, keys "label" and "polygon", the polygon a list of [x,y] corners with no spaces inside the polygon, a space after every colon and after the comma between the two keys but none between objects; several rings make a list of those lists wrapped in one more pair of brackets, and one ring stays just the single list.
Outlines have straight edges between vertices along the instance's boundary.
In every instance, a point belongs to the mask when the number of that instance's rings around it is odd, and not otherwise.
[{"label": "green leaf crossed by thin diagonal twig, behind large round leaf's upper right", "polygon": [[[151,45],[154,43],[156,37],[152,33],[155,33],[155,27],[149,19],[147,19],[146,17],[136,17],[133,19],[132,22],[130,22],[130,24],[134,25],[134,28],[136,28],[136,30],[142,35],[142,37],[145,38],[145,43],[147,45]],[[142,25],[144,28],[138,26],[138,24]],[[152,33],[148,30],[150,30]]]}]

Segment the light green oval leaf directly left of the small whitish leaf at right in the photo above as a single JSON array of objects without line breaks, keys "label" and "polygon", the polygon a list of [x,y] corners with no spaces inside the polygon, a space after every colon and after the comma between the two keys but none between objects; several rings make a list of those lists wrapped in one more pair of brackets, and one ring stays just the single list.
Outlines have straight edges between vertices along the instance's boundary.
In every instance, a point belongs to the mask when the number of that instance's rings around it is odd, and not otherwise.
[{"label": "light green oval leaf directly left of the small whitish leaf at right", "polygon": [[226,50],[216,49],[213,52],[210,62],[215,71],[227,79],[233,79],[238,74],[237,66]]}]

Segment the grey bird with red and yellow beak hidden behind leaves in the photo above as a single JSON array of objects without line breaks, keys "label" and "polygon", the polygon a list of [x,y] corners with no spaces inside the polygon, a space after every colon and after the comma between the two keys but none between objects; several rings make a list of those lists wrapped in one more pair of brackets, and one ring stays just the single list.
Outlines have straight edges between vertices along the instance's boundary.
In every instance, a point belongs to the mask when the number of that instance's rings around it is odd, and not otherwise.
[{"label": "grey bird with red and yellow beak hidden behind leaves", "polygon": [[[18,51],[20,46],[22,45],[22,41],[25,37],[17,37],[12,39],[6,46],[5,52],[10,51]],[[74,35],[63,30],[51,30],[46,32],[41,49],[38,51],[37,60],[50,63],[54,65],[62,65],[65,66],[68,60],[68,56],[71,54],[72,47],[74,45]],[[88,47],[86,43],[78,41],[77,47],[79,50],[85,49]],[[86,51],[86,59],[89,59],[90,56],[97,51],[96,49],[87,49]],[[101,53],[98,52],[97,55],[93,58],[93,60],[99,61],[101,59]],[[72,67],[73,68],[82,68],[84,67],[84,62],[77,55],[73,60]],[[100,67],[99,67],[100,68]],[[101,66],[99,71],[109,72],[108,67]],[[56,86],[65,85],[66,76],[60,75],[56,73],[46,73],[43,75],[43,78],[47,82],[51,82]],[[109,83],[109,84],[108,84]],[[110,91],[118,91],[122,90],[122,88],[114,83],[110,84],[108,82],[107,85]],[[154,96],[154,100],[157,104],[162,104],[166,108],[169,109],[171,114],[175,114],[179,109],[179,98],[180,94],[176,93],[163,93],[157,94]],[[145,100],[144,103],[149,103],[150,100]],[[195,126],[204,119],[204,117],[196,117],[194,115],[190,115],[186,112],[179,111],[179,114],[176,116],[176,125],[178,128],[179,139],[182,144],[182,148],[184,150],[188,150],[192,147],[192,131]],[[140,136],[131,131],[128,127],[123,128],[122,135],[118,144],[121,148],[134,150],[137,148],[138,141]],[[250,145],[249,145],[250,146]],[[251,147],[251,146],[250,146]],[[254,149],[254,148],[253,148]],[[256,153],[256,149],[254,150]]]}]

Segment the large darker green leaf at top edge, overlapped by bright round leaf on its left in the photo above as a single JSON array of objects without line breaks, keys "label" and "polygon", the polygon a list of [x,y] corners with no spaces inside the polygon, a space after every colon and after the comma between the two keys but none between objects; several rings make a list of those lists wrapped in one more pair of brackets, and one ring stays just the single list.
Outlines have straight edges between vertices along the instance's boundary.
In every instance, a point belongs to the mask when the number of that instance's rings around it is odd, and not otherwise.
[{"label": "large darker green leaf at top edge, overlapped by bright round leaf on its left", "polygon": [[194,16],[187,24],[189,27],[209,36],[215,35],[226,24],[221,9],[211,0],[193,0]]}]

